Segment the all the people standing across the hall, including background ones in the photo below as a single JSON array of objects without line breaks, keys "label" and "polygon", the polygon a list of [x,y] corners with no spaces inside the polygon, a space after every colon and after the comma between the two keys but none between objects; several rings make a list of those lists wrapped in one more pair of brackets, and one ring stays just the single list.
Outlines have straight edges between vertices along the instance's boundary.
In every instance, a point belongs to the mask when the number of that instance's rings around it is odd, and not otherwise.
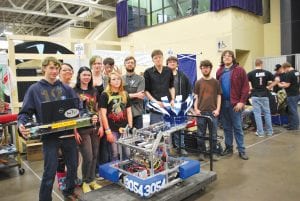
[{"label": "all the people standing across the hall, including background ones", "polygon": [[[274,80],[272,75],[262,69],[262,62],[256,61],[256,69],[248,75],[244,68],[238,65],[234,53],[226,50],[221,55],[221,65],[217,70],[216,79],[212,77],[213,65],[209,60],[201,61],[200,71],[202,78],[194,86],[191,85],[186,75],[178,71],[178,60],[174,56],[167,58],[166,66],[161,50],[154,50],[151,54],[153,66],[146,69],[144,75],[135,73],[136,60],[129,56],[124,60],[126,74],[114,65],[112,58],[102,59],[93,56],[90,67],[80,67],[77,72],[76,84],[71,85],[74,74],[70,64],[60,64],[54,57],[47,57],[42,62],[44,78],[30,86],[23,100],[23,106],[18,115],[18,128],[23,137],[27,138],[29,129],[25,127],[32,115],[36,121],[41,122],[41,103],[45,101],[62,100],[78,97],[81,101],[80,114],[89,114],[93,125],[56,132],[42,136],[44,154],[44,173],[40,187],[39,199],[52,200],[51,192],[55,173],[58,167],[58,150],[67,167],[66,188],[63,194],[66,200],[74,200],[75,180],[77,178],[78,151],[81,152],[83,190],[98,189],[100,186],[95,181],[97,165],[118,160],[119,150],[116,140],[122,135],[122,128],[143,127],[143,100],[156,102],[164,107],[161,98],[167,96],[170,105],[174,106],[176,95],[182,95],[185,100],[189,94],[194,93],[193,112],[198,115],[197,134],[200,136],[198,146],[203,147],[201,136],[205,136],[208,119],[201,115],[209,116],[212,121],[212,134],[214,138],[213,149],[216,148],[218,119],[221,117],[225,150],[221,155],[233,154],[233,137],[236,140],[239,157],[248,160],[245,152],[244,133],[242,127],[242,111],[248,100],[250,89],[257,121],[257,135],[265,134],[261,121],[261,111],[266,119],[266,133],[272,135],[272,125],[268,117],[268,100],[265,98],[267,91],[275,85],[285,88],[288,94],[290,124],[289,129],[299,128],[297,119],[297,102],[299,100],[299,72],[286,70],[287,76]],[[283,64],[283,69],[287,69]],[[296,92],[295,78],[298,73],[298,91]],[[57,77],[60,79],[57,79]],[[271,85],[267,85],[272,81]],[[249,85],[249,82],[251,83]],[[298,98],[298,99],[297,99]],[[297,114],[298,115],[298,114]],[[163,120],[163,115],[150,111],[150,124]],[[298,121],[298,123],[297,123]],[[184,149],[184,139],[180,133],[173,135],[173,143]],[[179,144],[181,142],[181,144]],[[129,151],[122,151],[128,157]],[[217,155],[214,154],[214,158]]]}]

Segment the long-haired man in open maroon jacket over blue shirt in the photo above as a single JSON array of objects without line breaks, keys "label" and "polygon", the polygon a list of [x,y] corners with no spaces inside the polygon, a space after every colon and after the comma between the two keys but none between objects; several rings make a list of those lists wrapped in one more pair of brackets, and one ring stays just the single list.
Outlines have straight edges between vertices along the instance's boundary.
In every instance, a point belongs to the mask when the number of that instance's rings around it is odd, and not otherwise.
[{"label": "long-haired man in open maroon jacket over blue shirt", "polygon": [[234,136],[239,157],[248,160],[244,146],[242,111],[249,96],[249,81],[244,68],[237,64],[233,51],[225,50],[222,53],[217,80],[222,89],[221,119],[226,146],[222,155],[233,154]]}]

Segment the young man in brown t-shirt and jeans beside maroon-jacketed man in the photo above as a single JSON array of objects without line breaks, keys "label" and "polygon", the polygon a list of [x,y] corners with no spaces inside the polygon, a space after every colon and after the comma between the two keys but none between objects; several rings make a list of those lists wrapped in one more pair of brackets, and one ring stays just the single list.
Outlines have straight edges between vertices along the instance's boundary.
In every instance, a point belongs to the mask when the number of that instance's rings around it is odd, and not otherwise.
[{"label": "young man in brown t-shirt and jeans beside maroon-jacketed man", "polygon": [[[211,117],[212,120],[212,135],[213,135],[213,160],[219,160],[216,143],[217,143],[217,129],[218,116],[221,108],[221,87],[218,80],[210,76],[212,70],[212,63],[209,60],[201,61],[200,70],[203,77],[195,84],[195,102],[194,112],[197,115],[205,115]],[[206,135],[209,119],[198,117],[197,138],[198,148],[205,152],[205,141],[201,139]],[[204,160],[203,154],[199,155],[199,160]]]}]

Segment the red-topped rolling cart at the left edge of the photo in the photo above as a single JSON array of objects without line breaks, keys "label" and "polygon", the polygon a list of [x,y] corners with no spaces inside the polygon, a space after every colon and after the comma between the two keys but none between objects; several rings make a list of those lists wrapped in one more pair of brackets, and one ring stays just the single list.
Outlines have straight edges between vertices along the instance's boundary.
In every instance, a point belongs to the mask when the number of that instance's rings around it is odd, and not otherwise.
[{"label": "red-topped rolling cart at the left edge of the photo", "polygon": [[[23,175],[25,173],[25,169],[22,168],[22,161],[19,152],[19,136],[16,129],[17,115],[5,114],[0,115],[0,117],[0,128],[2,128],[0,143],[0,169],[18,167],[19,174]],[[7,119],[13,121],[7,121]]]}]

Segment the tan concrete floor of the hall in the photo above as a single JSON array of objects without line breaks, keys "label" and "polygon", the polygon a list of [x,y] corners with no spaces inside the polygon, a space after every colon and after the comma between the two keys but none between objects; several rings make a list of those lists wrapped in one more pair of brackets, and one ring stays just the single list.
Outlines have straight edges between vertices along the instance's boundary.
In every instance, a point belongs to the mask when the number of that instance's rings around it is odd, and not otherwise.
[{"label": "tan concrete floor of the hall", "polygon": [[[274,130],[268,138],[245,132],[250,160],[243,161],[235,153],[214,163],[218,179],[186,201],[300,200],[300,131]],[[38,200],[43,163],[24,161],[22,166],[26,170],[22,176],[17,168],[0,170],[1,201]],[[202,168],[209,170],[205,163]],[[63,200],[56,185],[53,200]]]}]

